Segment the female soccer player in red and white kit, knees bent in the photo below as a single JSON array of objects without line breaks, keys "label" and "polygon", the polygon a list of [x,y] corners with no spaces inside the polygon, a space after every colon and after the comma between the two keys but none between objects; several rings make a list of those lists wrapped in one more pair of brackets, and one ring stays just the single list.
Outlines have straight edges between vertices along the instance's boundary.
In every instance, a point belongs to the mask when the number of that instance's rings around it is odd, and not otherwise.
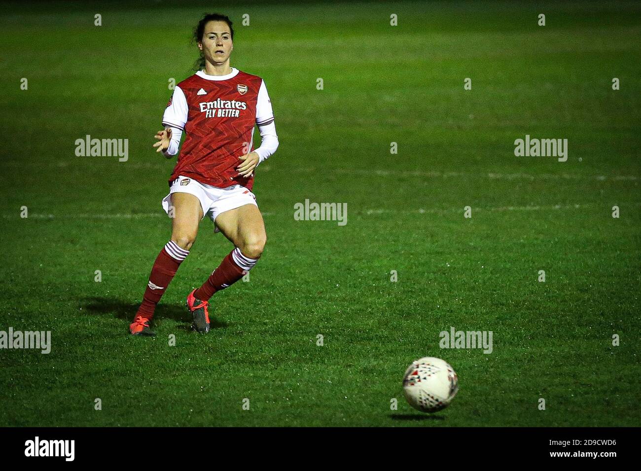
[{"label": "female soccer player in red and white kit, knees bent", "polygon": [[[169,158],[185,142],[169,178],[169,195],[162,205],[172,218],[171,240],[154,262],[149,283],[129,330],[154,335],[154,308],[180,263],[194,244],[198,224],[210,217],[234,249],[200,288],[187,295],[194,329],[209,331],[208,300],[251,269],[260,258],[267,235],[263,217],[251,192],[254,170],[278,147],[272,105],[262,78],[229,67],[234,30],[225,15],[205,15],[194,38],[200,49],[196,74],[176,85],[156,133],[156,152]],[[261,145],[253,147],[254,125]]]}]

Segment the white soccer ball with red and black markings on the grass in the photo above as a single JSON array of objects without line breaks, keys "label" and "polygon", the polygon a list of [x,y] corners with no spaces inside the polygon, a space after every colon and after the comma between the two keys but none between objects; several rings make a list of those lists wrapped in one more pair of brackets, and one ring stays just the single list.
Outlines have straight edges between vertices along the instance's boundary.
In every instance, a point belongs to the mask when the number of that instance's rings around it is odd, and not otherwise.
[{"label": "white soccer ball with red and black markings on the grass", "polygon": [[403,377],[405,399],[422,412],[445,409],[458,392],[458,376],[449,363],[426,356],[412,362]]}]

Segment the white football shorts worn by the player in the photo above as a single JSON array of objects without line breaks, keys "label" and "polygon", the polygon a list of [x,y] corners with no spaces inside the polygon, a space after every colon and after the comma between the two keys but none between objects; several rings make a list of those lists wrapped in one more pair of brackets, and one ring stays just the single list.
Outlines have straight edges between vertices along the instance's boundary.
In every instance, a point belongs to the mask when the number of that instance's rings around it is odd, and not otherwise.
[{"label": "white football shorts worn by the player", "polygon": [[212,185],[205,185],[193,178],[179,176],[171,184],[169,195],[162,200],[162,207],[165,213],[169,214],[169,204],[171,203],[172,193],[188,193],[198,198],[203,208],[203,217],[209,216],[214,223],[214,232],[220,232],[216,226],[216,218],[220,213],[235,210],[245,204],[256,204],[256,196],[242,185],[228,186],[227,188],[217,188]]}]

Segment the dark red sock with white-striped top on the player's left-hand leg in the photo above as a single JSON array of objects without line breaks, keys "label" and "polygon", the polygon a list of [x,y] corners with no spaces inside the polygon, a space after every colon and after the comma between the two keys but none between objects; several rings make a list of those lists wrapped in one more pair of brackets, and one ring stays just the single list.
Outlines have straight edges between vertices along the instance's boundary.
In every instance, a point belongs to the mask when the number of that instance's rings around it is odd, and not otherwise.
[{"label": "dark red sock with white-striped top on the player's left-hand leg", "polygon": [[165,247],[160,251],[158,257],[156,257],[156,261],[154,261],[151,275],[149,275],[147,289],[142,297],[140,308],[138,308],[138,312],[136,313],[137,316],[140,315],[147,319],[154,317],[156,304],[158,304],[165,290],[167,290],[167,286],[169,286],[169,283],[176,274],[181,261],[185,260],[188,254],[189,251],[178,247],[178,244],[173,240],[165,244]]}]

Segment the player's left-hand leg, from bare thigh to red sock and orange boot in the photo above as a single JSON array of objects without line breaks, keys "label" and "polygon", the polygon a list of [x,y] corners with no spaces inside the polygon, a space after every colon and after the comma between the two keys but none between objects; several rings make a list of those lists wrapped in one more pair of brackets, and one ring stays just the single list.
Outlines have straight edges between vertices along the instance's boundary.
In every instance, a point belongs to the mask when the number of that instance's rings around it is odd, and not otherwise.
[{"label": "player's left-hand leg, from bare thigh to red sock and orange boot", "polygon": [[133,335],[154,335],[150,329],[154,310],[196,240],[198,224],[203,219],[203,208],[194,195],[173,193],[169,215],[172,217],[171,240],[154,261],[142,303],[129,326]]}]

